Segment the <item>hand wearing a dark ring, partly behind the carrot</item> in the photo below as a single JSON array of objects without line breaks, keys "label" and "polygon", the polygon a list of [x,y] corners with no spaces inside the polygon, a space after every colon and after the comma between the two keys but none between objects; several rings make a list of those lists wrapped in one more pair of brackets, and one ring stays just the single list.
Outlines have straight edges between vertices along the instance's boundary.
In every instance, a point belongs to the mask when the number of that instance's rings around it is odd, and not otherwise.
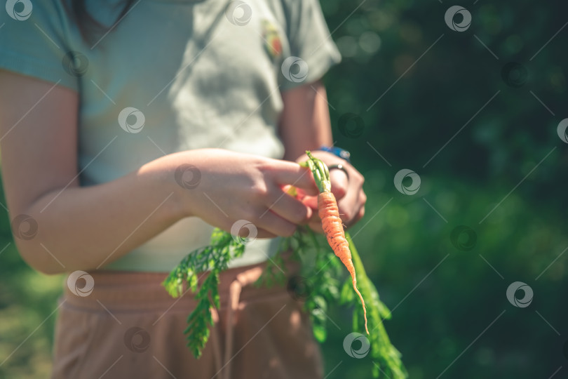
[{"label": "hand wearing a dark ring, partly behind the carrot", "polygon": [[[346,228],[351,227],[365,214],[365,202],[367,201],[367,196],[363,192],[365,178],[351,164],[334,154],[322,151],[313,151],[312,154],[321,159],[327,166],[342,164],[349,173],[348,178],[342,170],[332,169],[330,170],[330,181],[332,193],[337,199],[337,206],[339,206],[339,216]],[[304,154],[296,161],[300,163],[307,159],[308,157]],[[306,196],[302,199],[302,202],[314,210],[313,216],[308,222],[309,227],[315,232],[323,233],[318,215],[318,197]]]}]

